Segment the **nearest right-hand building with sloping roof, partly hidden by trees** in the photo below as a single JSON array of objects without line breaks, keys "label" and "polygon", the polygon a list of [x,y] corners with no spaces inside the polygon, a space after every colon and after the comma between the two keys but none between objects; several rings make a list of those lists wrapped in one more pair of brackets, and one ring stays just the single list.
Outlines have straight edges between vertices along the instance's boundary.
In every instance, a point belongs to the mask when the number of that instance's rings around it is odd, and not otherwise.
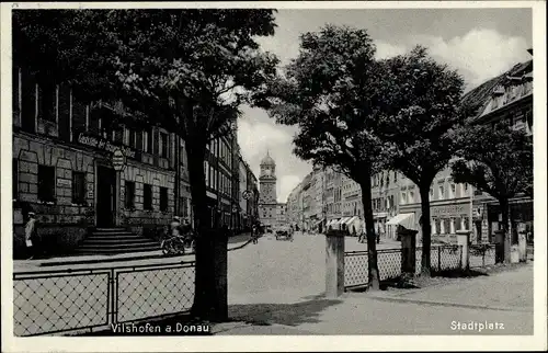
[{"label": "nearest right-hand building with sloping roof, partly hidden by trees", "polygon": [[[469,124],[505,121],[533,134],[533,62],[516,65],[510,71],[468,92],[463,101],[465,104],[480,106],[478,112],[469,117]],[[420,230],[419,190],[408,179],[403,179],[400,185],[398,217],[412,219],[410,221]],[[493,240],[493,232],[499,229],[501,219],[498,202],[488,194],[472,190],[470,185],[456,184],[450,178],[449,167],[435,176],[430,190],[430,200],[434,240],[452,241],[459,229],[471,229],[475,242]],[[511,214],[514,220],[532,227],[533,200],[525,195],[515,197],[511,201]],[[515,242],[515,232],[513,236]]]}]

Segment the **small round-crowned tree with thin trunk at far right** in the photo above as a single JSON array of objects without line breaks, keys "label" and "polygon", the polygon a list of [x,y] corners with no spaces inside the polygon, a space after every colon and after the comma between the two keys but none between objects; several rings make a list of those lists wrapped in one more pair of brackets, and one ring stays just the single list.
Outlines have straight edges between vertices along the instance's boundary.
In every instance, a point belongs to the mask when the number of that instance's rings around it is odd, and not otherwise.
[{"label": "small round-crowned tree with thin trunk at far right", "polygon": [[504,261],[510,261],[510,200],[533,187],[533,141],[507,123],[466,126],[458,134],[461,159],[453,162],[457,183],[469,183],[496,201],[502,213]]}]

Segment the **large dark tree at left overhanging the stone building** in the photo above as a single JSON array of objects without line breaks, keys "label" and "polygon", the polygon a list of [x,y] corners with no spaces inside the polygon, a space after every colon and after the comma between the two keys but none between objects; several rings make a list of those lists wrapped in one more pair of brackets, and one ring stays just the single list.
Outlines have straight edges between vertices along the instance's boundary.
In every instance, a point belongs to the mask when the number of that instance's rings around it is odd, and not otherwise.
[{"label": "large dark tree at left overhanging the stone building", "polygon": [[[37,15],[48,19],[44,26],[52,29],[55,20],[49,16],[61,14],[43,11]],[[70,39],[81,34],[82,26],[67,24],[64,31],[52,30],[49,37],[27,35],[26,45],[39,45],[35,38],[67,44],[49,48],[48,60],[75,50],[77,54],[55,66],[55,71],[67,70],[65,80],[95,93],[93,99],[103,101],[111,111],[114,103],[122,106],[114,110],[112,119],[133,126],[162,126],[185,141],[198,235],[192,314],[202,319],[225,319],[226,277],[218,276],[218,271],[226,269],[226,246],[219,247],[226,238],[212,231],[204,159],[208,141],[232,134],[240,105],[252,102],[275,73],[277,58],[262,53],[256,43],[258,36],[274,34],[273,11],[84,10],[69,15],[78,19],[67,23],[83,19],[94,29],[92,35],[82,35],[82,43],[72,47]],[[31,22],[21,27],[32,27]],[[82,55],[90,50],[99,53],[100,65]],[[73,72],[73,67],[88,67],[93,72],[95,65],[101,80]]]}]

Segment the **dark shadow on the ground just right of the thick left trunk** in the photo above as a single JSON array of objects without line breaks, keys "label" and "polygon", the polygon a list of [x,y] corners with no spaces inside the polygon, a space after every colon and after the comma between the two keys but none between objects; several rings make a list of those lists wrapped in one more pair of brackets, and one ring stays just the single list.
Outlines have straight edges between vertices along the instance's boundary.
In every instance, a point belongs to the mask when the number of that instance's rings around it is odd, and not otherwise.
[{"label": "dark shadow on the ground just right of the thick left trunk", "polygon": [[305,322],[320,322],[318,319],[319,314],[340,303],[342,300],[312,299],[294,304],[239,304],[229,306],[228,315],[230,320],[258,326],[274,323],[298,326]]}]

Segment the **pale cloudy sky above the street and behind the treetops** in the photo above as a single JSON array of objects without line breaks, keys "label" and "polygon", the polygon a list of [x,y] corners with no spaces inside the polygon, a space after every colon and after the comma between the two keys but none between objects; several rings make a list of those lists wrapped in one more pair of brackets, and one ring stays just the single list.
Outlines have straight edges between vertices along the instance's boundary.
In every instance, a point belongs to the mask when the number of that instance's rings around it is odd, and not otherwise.
[{"label": "pale cloudy sky above the street and behind the treetops", "polygon": [[[438,61],[457,69],[467,90],[530,59],[530,9],[352,9],[278,10],[275,35],[259,38],[282,65],[298,55],[299,35],[326,24],[366,29],[377,57],[404,54],[421,44]],[[311,171],[311,163],[293,155],[297,128],[277,125],[261,109],[243,107],[238,123],[242,157],[259,176],[260,161],[270,151],[276,161],[277,200],[288,194]]]}]

